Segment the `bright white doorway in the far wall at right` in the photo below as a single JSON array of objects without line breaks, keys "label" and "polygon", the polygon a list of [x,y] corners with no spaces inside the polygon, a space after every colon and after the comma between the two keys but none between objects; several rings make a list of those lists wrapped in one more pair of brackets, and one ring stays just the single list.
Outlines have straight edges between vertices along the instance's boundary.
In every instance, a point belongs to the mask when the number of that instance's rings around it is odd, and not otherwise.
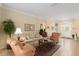
[{"label": "bright white doorway in the far wall at right", "polygon": [[72,23],[70,21],[64,21],[61,24],[62,37],[72,38]]}]

